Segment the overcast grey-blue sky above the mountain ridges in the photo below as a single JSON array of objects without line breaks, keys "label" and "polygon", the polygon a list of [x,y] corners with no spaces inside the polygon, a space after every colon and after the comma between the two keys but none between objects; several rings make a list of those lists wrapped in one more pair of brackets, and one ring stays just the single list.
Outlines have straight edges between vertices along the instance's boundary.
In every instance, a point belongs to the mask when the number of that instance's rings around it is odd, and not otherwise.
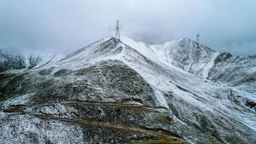
[{"label": "overcast grey-blue sky above the mountain ridges", "polygon": [[255,0],[1,0],[0,48],[62,52],[76,46],[72,51],[120,20],[121,36],[137,41],[196,40],[199,32],[213,50],[249,55],[256,54],[255,14]]}]

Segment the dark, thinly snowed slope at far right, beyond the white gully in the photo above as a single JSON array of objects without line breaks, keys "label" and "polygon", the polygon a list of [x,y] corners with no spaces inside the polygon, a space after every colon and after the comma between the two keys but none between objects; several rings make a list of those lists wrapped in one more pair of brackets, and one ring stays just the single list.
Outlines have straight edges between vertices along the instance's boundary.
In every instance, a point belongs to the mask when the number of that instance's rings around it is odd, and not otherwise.
[{"label": "dark, thinly snowed slope at far right, beyond the white gully", "polygon": [[[209,71],[208,79],[221,82],[232,89],[247,95],[243,101],[256,102],[256,55],[231,56],[219,54]],[[256,107],[254,107],[256,111]]]}]

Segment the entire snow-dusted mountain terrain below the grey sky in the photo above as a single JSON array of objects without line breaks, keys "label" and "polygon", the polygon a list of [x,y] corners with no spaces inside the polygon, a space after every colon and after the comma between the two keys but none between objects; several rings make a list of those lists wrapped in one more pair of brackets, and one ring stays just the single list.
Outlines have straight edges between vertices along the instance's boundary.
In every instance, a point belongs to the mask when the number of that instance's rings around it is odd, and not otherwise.
[{"label": "entire snow-dusted mountain terrain below the grey sky", "polygon": [[106,37],[36,69],[1,73],[0,138],[256,143],[253,74],[255,56],[187,38],[149,45]]}]

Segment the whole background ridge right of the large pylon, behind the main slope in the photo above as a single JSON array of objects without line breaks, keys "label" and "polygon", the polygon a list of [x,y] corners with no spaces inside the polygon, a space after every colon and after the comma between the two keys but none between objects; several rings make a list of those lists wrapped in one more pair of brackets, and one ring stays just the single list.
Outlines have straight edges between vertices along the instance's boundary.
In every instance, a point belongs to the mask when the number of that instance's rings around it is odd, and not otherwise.
[{"label": "whole background ridge right of the large pylon, behind the main slope", "polygon": [[[188,38],[159,45],[136,42],[125,37],[122,41],[154,61],[177,66],[228,86],[236,93],[236,100],[245,107],[248,102],[253,105],[256,103],[256,55],[232,56],[229,53],[218,53]],[[253,105],[247,108],[256,111]]]}]

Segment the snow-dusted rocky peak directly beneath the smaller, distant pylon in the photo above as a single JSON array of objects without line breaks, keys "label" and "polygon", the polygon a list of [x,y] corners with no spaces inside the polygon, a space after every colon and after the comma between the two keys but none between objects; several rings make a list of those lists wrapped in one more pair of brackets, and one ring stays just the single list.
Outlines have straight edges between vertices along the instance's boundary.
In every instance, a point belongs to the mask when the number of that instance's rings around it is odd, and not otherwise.
[{"label": "snow-dusted rocky peak directly beneath the smaller, distant pylon", "polygon": [[179,38],[159,45],[136,42],[125,37],[122,37],[122,41],[148,58],[158,60],[164,64],[173,64],[204,78],[208,76],[214,59],[219,54],[188,38]]}]

